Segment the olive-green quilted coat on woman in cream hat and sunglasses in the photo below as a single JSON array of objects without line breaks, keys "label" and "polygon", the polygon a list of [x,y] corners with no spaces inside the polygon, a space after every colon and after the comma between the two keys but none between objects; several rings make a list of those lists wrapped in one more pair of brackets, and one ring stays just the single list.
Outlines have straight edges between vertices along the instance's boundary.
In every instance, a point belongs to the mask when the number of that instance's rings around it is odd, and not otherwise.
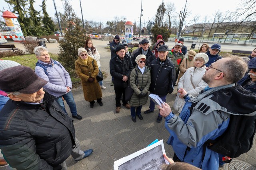
[{"label": "olive-green quilted coat on woman in cream hat and sunglasses", "polygon": [[[136,71],[138,76],[138,82],[136,80]],[[133,107],[142,106],[147,103],[148,101],[148,89],[151,83],[150,78],[150,70],[147,66],[145,66],[145,70],[142,74],[140,69],[138,68],[138,65],[132,70],[130,74],[130,85],[131,88],[134,90],[134,93],[132,94],[130,105]],[[144,96],[139,96],[141,92],[144,94]]]}]

